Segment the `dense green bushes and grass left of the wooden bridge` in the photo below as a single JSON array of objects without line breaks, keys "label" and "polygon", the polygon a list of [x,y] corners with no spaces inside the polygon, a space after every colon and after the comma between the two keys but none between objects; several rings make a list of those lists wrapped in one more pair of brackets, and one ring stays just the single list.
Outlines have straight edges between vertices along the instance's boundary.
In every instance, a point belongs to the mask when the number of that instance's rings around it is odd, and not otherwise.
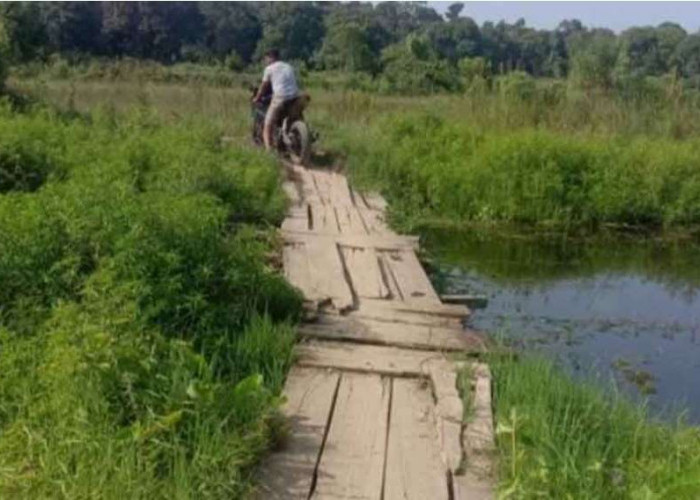
[{"label": "dense green bushes and grass left of the wooden bridge", "polygon": [[0,497],[250,491],[300,298],[277,166],[220,136],[0,109]]}]

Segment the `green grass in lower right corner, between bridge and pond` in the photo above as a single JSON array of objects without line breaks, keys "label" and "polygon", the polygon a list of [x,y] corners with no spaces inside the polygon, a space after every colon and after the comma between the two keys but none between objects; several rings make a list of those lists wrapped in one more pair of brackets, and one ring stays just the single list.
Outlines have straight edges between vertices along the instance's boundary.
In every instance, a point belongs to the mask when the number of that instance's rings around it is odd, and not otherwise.
[{"label": "green grass in lower right corner, between bridge and pond", "polygon": [[506,358],[491,369],[502,498],[700,495],[697,428],[653,422],[550,361]]}]

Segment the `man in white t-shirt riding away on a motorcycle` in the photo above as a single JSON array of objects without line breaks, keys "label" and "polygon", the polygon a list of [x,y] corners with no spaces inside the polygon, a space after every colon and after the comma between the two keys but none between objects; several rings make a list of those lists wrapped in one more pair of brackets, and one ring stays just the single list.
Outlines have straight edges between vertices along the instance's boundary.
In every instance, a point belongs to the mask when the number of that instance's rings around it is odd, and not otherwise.
[{"label": "man in white t-shirt riding away on a motorcycle", "polygon": [[279,119],[284,104],[299,96],[294,68],[279,60],[279,52],[276,49],[268,50],[265,53],[263,81],[253,101],[259,101],[270,91],[270,87],[272,87],[272,101],[270,107],[267,108],[263,127],[263,141],[265,141],[265,147],[268,150],[272,148],[272,129]]}]

